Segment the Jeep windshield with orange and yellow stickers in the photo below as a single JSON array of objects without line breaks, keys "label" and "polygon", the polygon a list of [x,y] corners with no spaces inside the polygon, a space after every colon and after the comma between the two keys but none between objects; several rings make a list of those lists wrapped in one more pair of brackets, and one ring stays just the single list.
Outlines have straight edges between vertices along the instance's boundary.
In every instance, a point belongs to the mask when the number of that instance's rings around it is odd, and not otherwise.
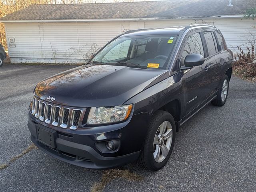
[{"label": "Jeep windshield with orange and yellow stickers", "polygon": [[91,62],[139,68],[166,69],[176,35],[143,35],[117,38]]}]

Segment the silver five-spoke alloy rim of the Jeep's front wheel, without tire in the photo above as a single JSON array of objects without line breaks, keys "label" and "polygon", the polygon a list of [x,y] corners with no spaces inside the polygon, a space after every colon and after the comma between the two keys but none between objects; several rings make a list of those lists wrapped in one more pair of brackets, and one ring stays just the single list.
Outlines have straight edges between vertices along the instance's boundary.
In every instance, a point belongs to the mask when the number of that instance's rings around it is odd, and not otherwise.
[{"label": "silver five-spoke alloy rim of the Jeep's front wheel, without tire", "polygon": [[162,162],[170,151],[172,145],[172,125],[164,121],[156,131],[153,142],[153,156],[156,162]]}]

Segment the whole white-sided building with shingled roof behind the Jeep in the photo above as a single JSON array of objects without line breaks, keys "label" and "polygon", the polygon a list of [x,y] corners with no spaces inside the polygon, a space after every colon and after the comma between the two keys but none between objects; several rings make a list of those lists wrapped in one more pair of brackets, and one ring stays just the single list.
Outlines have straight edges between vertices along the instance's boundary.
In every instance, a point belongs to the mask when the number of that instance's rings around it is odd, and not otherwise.
[{"label": "whole white-sided building with shingled roof behind the Jeep", "polygon": [[[11,62],[77,63],[126,30],[206,23],[228,47],[246,49],[256,20],[243,18],[255,0],[169,0],[102,4],[32,5],[0,18]],[[229,6],[228,6],[229,4]]]}]

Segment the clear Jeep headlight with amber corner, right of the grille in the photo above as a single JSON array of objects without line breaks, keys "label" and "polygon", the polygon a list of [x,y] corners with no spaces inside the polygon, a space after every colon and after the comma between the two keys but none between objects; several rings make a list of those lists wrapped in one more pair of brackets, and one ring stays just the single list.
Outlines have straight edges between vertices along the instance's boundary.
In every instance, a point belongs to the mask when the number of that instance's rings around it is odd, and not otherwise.
[{"label": "clear Jeep headlight with amber corner, right of the grille", "polygon": [[92,107],[87,124],[106,124],[126,120],[132,111],[132,105],[114,107]]}]

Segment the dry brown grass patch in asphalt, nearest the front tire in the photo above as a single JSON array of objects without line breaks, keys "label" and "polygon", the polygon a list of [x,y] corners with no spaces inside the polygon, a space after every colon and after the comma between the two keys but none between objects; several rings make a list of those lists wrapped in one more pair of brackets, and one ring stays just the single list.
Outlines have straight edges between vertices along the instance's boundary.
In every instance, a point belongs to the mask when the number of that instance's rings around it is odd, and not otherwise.
[{"label": "dry brown grass patch in asphalt, nearest the front tire", "polygon": [[102,192],[106,185],[116,179],[116,178],[123,178],[125,180],[129,181],[141,181],[143,179],[142,176],[130,172],[129,170],[120,170],[120,169],[110,169],[110,170],[104,170],[102,179],[100,182],[96,182],[92,186],[91,192]]}]

